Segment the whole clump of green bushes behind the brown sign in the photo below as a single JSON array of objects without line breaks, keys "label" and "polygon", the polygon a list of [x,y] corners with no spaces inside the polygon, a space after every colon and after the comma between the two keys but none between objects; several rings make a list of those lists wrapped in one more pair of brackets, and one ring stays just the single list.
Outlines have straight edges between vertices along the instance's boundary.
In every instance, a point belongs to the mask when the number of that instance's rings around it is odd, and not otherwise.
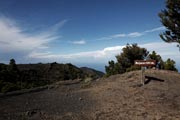
[{"label": "whole clump of green bushes behind the brown sign", "polygon": [[[137,44],[129,45],[122,49],[122,53],[116,56],[117,62],[111,60],[109,65],[105,66],[106,77],[115,74],[122,74],[125,72],[130,72],[134,70],[140,70],[140,66],[135,66],[135,60],[156,60],[156,68],[163,70],[177,71],[175,67],[175,61],[168,58],[166,61],[163,61],[161,56],[155,51],[150,53],[147,49],[139,47]],[[147,69],[152,69],[153,67],[147,67]]]}]

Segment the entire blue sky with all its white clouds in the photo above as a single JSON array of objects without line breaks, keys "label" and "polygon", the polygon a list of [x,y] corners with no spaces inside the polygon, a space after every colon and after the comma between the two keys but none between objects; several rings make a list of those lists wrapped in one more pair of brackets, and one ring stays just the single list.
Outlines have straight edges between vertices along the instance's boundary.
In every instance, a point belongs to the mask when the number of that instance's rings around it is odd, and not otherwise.
[{"label": "entire blue sky with all its white clouds", "polygon": [[[0,63],[72,63],[104,71],[127,43],[171,58],[159,37],[165,0],[0,0]],[[180,70],[180,69],[179,69]]]}]

